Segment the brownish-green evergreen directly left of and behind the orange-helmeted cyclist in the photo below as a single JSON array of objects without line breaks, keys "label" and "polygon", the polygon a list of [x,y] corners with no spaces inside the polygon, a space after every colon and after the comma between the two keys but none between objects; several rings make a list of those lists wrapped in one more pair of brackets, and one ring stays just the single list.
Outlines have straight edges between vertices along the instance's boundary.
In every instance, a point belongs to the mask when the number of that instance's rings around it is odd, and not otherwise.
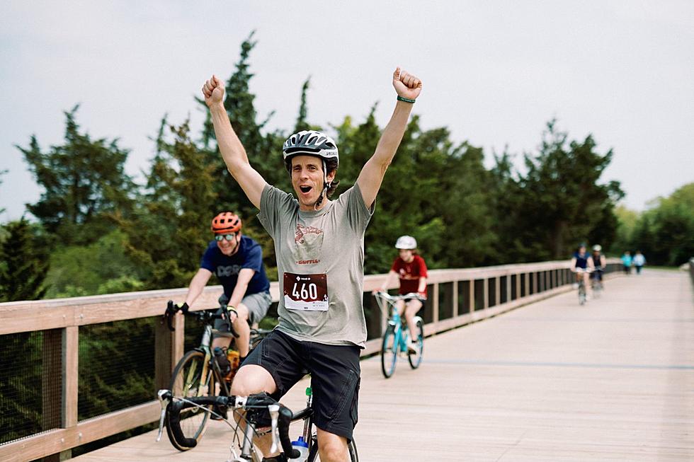
[{"label": "brownish-green evergreen directly left of and behind the orange-helmeted cyclist", "polygon": [[190,282],[210,237],[210,220],[226,208],[215,194],[215,166],[190,139],[188,122],[169,127],[171,141],[164,137],[165,125],[164,120],[146,192],[130,217],[117,216],[126,253],[142,271],[146,289]]}]

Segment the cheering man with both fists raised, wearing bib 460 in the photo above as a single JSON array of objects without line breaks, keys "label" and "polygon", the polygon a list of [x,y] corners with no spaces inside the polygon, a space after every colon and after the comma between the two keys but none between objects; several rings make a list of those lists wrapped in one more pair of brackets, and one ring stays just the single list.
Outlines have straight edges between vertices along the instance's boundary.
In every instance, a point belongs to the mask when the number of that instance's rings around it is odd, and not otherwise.
[{"label": "cheering man with both fists raised, wearing bib 460", "polygon": [[268,185],[251,167],[222,103],[216,76],[205,82],[224,163],[275,242],[279,323],[239,369],[232,394],[267,391],[279,398],[312,374],[314,422],[321,461],[348,460],[357,423],[359,353],[366,341],[362,305],[364,233],[383,176],[400,144],[421,81],[395,69],[397,103],[356,184],[336,200],[337,146],[321,132],[292,134],[283,146],[296,198]]}]

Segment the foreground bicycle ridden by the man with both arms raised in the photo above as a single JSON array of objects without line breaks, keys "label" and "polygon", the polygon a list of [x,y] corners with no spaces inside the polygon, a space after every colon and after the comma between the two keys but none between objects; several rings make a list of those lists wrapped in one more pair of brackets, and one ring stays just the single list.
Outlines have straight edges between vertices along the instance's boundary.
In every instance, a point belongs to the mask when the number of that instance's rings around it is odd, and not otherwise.
[{"label": "foreground bicycle ridden by the man with both arms raised", "polygon": [[[161,417],[159,418],[159,435],[161,439],[162,427],[173,437],[171,441],[176,448],[191,449],[198,444],[194,434],[188,434],[181,425],[183,416],[181,412],[189,409],[199,409],[209,413],[210,408],[226,408],[233,410],[235,419],[224,419],[224,422],[232,429],[232,443],[229,445],[230,457],[227,462],[280,462],[288,459],[298,461],[320,461],[318,451],[318,437],[313,428],[313,394],[312,388],[306,389],[306,408],[299,412],[292,412],[284,405],[278,403],[267,393],[258,393],[249,396],[197,396],[177,397],[169,390],[160,390],[158,393],[161,402]],[[270,425],[268,427],[268,417]],[[302,433],[295,441],[289,437],[291,422],[303,423]],[[254,444],[255,437],[266,434],[272,435],[270,451],[275,454],[279,449],[279,456],[265,458],[261,449]],[[358,462],[357,446],[354,440],[348,444],[349,460]]]}]

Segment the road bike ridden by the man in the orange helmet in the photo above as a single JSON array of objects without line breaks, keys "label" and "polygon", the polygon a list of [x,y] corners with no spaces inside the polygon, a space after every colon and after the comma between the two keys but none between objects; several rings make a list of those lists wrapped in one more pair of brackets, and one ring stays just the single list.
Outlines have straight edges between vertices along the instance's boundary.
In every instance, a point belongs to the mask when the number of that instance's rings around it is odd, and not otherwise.
[{"label": "road bike ridden by the man in the orange helmet", "polygon": [[[221,306],[220,308],[226,308]],[[166,306],[164,318],[169,330],[174,330],[171,322],[178,308],[173,301],[169,301]],[[212,328],[213,323],[217,319],[223,319],[226,315],[226,309],[220,310],[215,308],[212,311],[188,311],[183,313],[185,316],[196,318],[204,324],[203,336],[200,339],[200,345],[189,350],[178,361],[174,372],[171,374],[169,389],[176,396],[184,398],[193,398],[208,395],[229,395],[231,381],[238,369],[239,364],[229,364],[227,360],[227,352],[221,351],[214,354],[210,349],[212,335],[220,337],[236,338],[239,335],[234,331],[232,323],[229,322],[230,333],[222,332]],[[228,319],[227,319],[228,320]],[[251,329],[251,348],[256,347],[264,337],[271,333],[271,330]],[[217,392],[217,388],[219,391]],[[210,409],[211,410],[211,409]],[[187,410],[181,425],[185,427],[188,437],[200,441],[205,433],[205,427],[210,419],[209,412],[203,412],[201,408],[191,408]],[[178,446],[176,439],[167,427],[166,433],[169,436],[171,444],[179,451],[186,451],[190,447]]]}]

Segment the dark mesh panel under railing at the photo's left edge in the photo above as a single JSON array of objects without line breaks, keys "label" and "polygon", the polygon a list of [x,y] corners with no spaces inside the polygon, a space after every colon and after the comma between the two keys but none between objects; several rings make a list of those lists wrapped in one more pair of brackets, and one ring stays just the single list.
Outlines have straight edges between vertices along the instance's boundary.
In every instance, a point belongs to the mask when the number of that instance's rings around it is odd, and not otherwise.
[{"label": "dark mesh panel under railing at the photo's left edge", "polygon": [[0,444],[60,427],[60,339],[59,330],[0,335]]}]

